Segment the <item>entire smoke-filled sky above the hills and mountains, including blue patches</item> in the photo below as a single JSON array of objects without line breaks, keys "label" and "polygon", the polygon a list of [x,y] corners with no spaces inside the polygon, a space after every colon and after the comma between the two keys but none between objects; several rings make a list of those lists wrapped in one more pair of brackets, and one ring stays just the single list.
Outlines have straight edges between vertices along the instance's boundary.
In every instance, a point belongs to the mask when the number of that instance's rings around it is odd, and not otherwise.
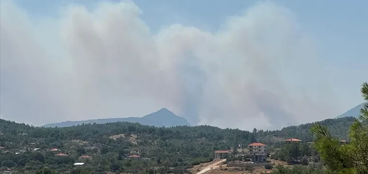
[{"label": "entire smoke-filled sky above the hills and mountains, including blue patches", "polygon": [[144,116],[243,130],[363,101],[368,1],[1,0],[0,115]]}]

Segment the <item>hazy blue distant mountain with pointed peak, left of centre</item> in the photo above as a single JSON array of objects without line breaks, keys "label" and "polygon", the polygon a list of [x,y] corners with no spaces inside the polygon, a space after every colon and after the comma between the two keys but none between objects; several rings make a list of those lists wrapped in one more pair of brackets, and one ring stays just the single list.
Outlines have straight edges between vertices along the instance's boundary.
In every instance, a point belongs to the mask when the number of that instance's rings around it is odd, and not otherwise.
[{"label": "hazy blue distant mountain with pointed peak, left of centre", "polygon": [[140,123],[142,125],[155,126],[155,127],[172,127],[172,126],[191,126],[190,123],[181,116],[177,116],[169,109],[162,108],[154,113],[148,114],[143,117],[127,117],[127,118],[101,118],[101,119],[90,119],[82,121],[64,121],[61,123],[50,123],[42,127],[69,127],[77,126],[81,124],[104,124],[113,122],[132,122]]}]

